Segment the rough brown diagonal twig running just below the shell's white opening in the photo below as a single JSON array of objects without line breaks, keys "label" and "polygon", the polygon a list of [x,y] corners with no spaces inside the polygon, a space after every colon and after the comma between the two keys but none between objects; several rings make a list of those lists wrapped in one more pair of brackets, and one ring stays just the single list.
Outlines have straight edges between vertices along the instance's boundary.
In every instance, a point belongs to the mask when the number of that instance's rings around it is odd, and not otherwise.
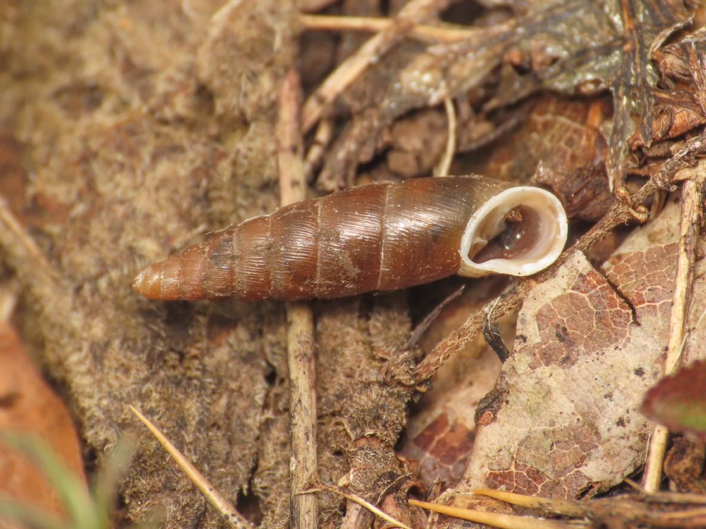
[{"label": "rough brown diagonal twig running just below the shell's white opening", "polygon": [[657,174],[654,174],[644,186],[642,186],[635,195],[630,197],[625,195],[623,200],[615,200],[606,214],[594,226],[587,231],[572,247],[565,250],[558,260],[548,267],[543,272],[537,274],[530,279],[515,279],[505,290],[498,296],[499,301],[491,300],[476,312],[474,312],[468,320],[464,322],[458,329],[449,334],[419,363],[414,372],[415,379],[418,383],[424,382],[441,367],[451,355],[460,351],[468,341],[472,340],[483,328],[484,311],[491,307],[493,303],[497,303],[493,309],[493,314],[496,317],[501,317],[511,310],[519,308],[522,300],[525,299],[527,293],[530,292],[532,286],[536,282],[542,282],[549,278],[556,269],[566,260],[568,255],[575,250],[586,252],[590,250],[592,245],[602,240],[611,233],[611,231],[625,224],[631,219],[639,219],[643,221],[646,218],[647,210],[642,203],[651,197],[655,192],[661,189],[671,190],[674,186],[674,181],[678,179],[678,171],[691,166],[695,163],[698,154],[706,152],[706,131],[703,131],[698,136],[690,138],[685,145],[668,159]]}]

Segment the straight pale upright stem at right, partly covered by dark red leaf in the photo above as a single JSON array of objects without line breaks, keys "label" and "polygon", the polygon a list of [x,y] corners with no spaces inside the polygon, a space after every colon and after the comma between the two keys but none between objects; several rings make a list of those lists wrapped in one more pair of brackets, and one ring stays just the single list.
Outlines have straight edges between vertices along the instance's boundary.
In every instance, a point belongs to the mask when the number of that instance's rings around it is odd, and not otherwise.
[{"label": "straight pale upright stem at right, partly covered by dark red leaf", "polygon": [[[688,171],[684,169],[683,171]],[[689,296],[694,280],[694,261],[702,216],[701,202],[706,182],[706,161],[700,160],[692,178],[684,182],[681,191],[681,225],[679,248],[676,258],[676,279],[669,318],[669,339],[664,358],[664,375],[671,375],[681,363],[684,329],[688,315]],[[659,490],[662,479],[662,459],[666,450],[669,430],[656,425],[650,436],[650,447],[645,461],[645,492]]]}]

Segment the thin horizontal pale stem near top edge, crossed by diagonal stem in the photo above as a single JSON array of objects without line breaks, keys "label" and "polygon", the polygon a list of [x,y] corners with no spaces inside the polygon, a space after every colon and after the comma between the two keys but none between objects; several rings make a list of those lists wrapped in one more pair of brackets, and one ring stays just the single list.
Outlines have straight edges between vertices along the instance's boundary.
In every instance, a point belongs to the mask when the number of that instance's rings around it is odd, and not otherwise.
[{"label": "thin horizontal pale stem near top edge, crossed by diagonal stem", "polygon": [[[307,30],[328,31],[384,31],[393,24],[390,18],[365,16],[301,15],[299,23]],[[475,37],[478,30],[449,25],[416,25],[409,35],[434,42],[458,42]]]}]

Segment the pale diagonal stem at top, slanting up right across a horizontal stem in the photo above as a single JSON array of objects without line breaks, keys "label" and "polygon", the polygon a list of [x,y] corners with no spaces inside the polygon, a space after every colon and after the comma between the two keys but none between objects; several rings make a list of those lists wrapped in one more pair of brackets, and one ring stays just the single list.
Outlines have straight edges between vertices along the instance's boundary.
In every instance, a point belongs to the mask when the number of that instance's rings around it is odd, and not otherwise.
[{"label": "pale diagonal stem at top, slanting up right across a horizontal stem", "polygon": [[301,127],[306,134],[323,114],[325,107],[333,102],[368,66],[376,63],[395,42],[424,18],[443,9],[448,0],[412,0],[400,10],[390,25],[365,42],[352,56],[321,83],[306,100],[302,109]]}]

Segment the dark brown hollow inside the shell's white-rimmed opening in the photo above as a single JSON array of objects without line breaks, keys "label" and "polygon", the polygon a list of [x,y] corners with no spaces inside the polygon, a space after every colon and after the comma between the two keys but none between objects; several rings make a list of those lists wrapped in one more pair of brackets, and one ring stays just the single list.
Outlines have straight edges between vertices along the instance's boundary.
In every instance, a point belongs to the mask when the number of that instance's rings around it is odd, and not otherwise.
[{"label": "dark brown hollow inside the shell's white-rimmed opening", "polygon": [[473,262],[481,263],[492,259],[516,259],[522,257],[537,245],[541,237],[539,214],[527,206],[517,206],[505,213],[505,228],[482,248],[474,245],[469,252]]}]

